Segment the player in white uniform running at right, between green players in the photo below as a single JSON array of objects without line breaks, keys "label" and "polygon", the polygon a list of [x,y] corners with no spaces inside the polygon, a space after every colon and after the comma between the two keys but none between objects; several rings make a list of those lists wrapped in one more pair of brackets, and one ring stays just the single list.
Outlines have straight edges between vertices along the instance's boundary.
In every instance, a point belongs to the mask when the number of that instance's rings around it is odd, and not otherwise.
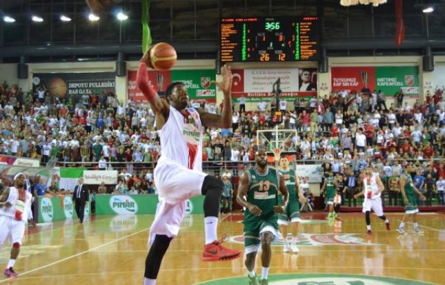
[{"label": "player in white uniform running at right, between green players", "polygon": [[372,235],[370,218],[371,209],[374,211],[375,215],[378,216],[378,218],[385,221],[385,224],[387,225],[387,231],[391,229],[389,220],[383,213],[382,199],[380,198],[380,193],[382,193],[383,190],[385,190],[385,186],[383,186],[380,177],[378,176],[378,174],[374,174],[373,168],[371,167],[371,165],[368,165],[366,167],[366,177],[363,179],[363,190],[360,193],[354,195],[354,197],[355,199],[357,199],[358,197],[364,195],[362,212],[365,213],[366,227],[368,229],[369,236]]}]

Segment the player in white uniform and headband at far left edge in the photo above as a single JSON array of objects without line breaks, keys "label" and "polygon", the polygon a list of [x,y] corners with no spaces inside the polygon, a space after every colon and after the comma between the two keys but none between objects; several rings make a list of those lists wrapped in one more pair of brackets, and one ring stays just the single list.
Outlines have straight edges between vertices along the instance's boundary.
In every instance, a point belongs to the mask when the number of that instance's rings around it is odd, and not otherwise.
[{"label": "player in white uniform and headband at far left edge", "polygon": [[30,220],[35,227],[33,212],[31,211],[33,195],[24,188],[25,179],[25,174],[16,174],[14,177],[15,187],[6,188],[0,196],[0,248],[6,242],[8,236],[13,243],[8,266],[3,271],[4,275],[8,277],[18,276],[13,267],[19,256],[26,220]]}]

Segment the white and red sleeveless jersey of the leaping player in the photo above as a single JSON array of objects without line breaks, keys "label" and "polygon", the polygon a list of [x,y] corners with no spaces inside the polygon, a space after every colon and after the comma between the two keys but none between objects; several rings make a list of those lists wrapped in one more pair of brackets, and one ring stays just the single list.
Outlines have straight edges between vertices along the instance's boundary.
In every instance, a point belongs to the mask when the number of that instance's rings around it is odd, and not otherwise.
[{"label": "white and red sleeveless jersey of the leaping player", "polygon": [[186,108],[182,115],[170,106],[170,115],[159,131],[161,157],[158,165],[175,163],[202,171],[202,124],[195,108]]}]

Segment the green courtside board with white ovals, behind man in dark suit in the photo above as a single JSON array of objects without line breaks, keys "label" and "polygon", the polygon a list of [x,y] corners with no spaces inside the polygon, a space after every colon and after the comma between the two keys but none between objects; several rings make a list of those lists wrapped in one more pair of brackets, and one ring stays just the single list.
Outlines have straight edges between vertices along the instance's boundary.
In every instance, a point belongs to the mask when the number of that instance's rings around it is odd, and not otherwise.
[{"label": "green courtside board with white ovals, behind man in dark suit", "polygon": [[[72,196],[60,197],[38,197],[38,220],[37,222],[51,222],[77,218]],[[85,215],[90,214],[90,203],[85,207]]]}]

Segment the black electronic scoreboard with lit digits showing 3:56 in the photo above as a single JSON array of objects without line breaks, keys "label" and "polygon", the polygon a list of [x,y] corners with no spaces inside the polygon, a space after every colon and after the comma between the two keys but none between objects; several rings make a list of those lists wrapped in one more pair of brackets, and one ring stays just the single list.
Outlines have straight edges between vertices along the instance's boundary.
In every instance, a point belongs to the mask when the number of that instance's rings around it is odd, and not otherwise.
[{"label": "black electronic scoreboard with lit digits showing 3:56", "polygon": [[223,18],[223,63],[320,59],[318,17]]}]

